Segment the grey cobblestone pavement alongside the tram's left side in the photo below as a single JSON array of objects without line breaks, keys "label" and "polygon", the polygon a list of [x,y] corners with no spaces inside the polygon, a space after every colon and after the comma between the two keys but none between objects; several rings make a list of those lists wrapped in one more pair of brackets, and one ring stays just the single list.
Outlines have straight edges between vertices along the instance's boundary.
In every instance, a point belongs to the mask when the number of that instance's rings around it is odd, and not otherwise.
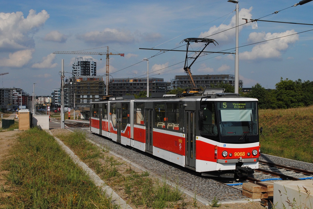
[{"label": "grey cobblestone pavement alongside the tram's left side", "polygon": [[196,172],[178,167],[177,165],[164,161],[161,158],[138,152],[130,147],[125,147],[106,138],[87,132],[87,138],[90,140],[110,148],[111,151],[127,158],[128,160],[138,164],[147,170],[166,177],[167,180],[176,183],[188,191],[196,193],[198,196],[211,202],[214,197],[218,197],[219,201],[244,200],[247,197],[241,194],[241,191],[233,187],[229,187],[223,183],[215,181],[211,178],[201,177]]}]

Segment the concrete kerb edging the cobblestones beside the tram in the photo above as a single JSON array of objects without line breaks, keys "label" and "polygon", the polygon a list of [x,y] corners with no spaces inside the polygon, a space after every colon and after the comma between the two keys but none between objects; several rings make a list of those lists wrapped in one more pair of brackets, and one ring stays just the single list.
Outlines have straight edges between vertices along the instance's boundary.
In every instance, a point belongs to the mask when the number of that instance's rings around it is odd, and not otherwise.
[{"label": "concrete kerb edging the cobblestones beside the tram", "polygon": [[[88,140],[90,143],[92,143],[92,144],[94,144],[94,145],[100,147],[101,149],[103,148],[100,144],[98,144],[98,143],[96,143],[96,142],[94,142],[94,141],[92,141],[92,140],[90,140],[90,139],[87,139],[87,140]],[[116,157],[121,158],[122,160],[126,161],[127,163],[129,163],[129,164],[131,164],[131,165],[133,165],[133,166],[135,166],[135,167],[141,169],[142,171],[147,171],[147,172],[149,172],[151,176],[153,176],[153,177],[155,177],[155,178],[157,178],[157,179],[159,179],[159,180],[161,180],[161,181],[164,180],[161,176],[159,176],[159,175],[157,175],[157,174],[155,174],[155,173],[153,173],[153,172],[147,170],[147,169],[144,168],[144,167],[141,167],[140,165],[138,165],[138,164],[136,164],[136,163],[134,163],[134,162],[131,162],[131,161],[128,160],[127,158],[122,157],[121,155],[119,155],[119,154],[117,154],[117,153],[115,153],[115,152],[112,152],[112,151],[110,151],[110,153],[111,153],[112,155],[115,155]],[[171,182],[171,181],[166,180],[166,183],[169,184],[169,185],[171,185],[172,187],[178,188],[181,192],[184,192],[184,193],[185,193],[186,195],[188,195],[189,197],[192,197],[192,198],[195,197],[198,202],[200,202],[201,204],[203,204],[203,205],[205,205],[205,206],[209,206],[209,205],[212,204],[211,202],[208,202],[208,200],[204,199],[203,197],[200,197],[200,196],[198,196],[197,194],[195,194],[195,193],[193,193],[193,192],[191,192],[191,191],[189,191],[189,190],[186,190],[185,188],[180,187],[180,186],[178,186],[177,184],[175,184],[175,183],[173,183],[173,182]],[[261,201],[261,199],[249,199],[249,198],[247,198],[247,199],[239,199],[239,200],[226,200],[226,201],[221,201],[221,202],[219,202],[219,203],[221,203],[221,204],[233,204],[233,203],[249,203],[249,202],[260,202],[260,201]]]}]

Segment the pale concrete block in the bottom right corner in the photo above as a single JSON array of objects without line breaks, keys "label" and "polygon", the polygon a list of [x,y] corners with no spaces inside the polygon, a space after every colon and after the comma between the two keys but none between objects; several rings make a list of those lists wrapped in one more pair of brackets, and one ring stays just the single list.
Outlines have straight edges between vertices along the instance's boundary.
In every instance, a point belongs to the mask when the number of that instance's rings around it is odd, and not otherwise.
[{"label": "pale concrete block in the bottom right corner", "polygon": [[274,182],[275,208],[313,208],[313,180]]}]

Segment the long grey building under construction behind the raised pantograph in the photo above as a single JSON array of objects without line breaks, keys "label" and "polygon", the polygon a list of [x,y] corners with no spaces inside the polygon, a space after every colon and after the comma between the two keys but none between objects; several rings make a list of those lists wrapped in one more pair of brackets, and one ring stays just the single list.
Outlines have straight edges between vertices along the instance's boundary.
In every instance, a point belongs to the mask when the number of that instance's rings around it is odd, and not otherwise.
[{"label": "long grey building under construction behind the raised pantograph", "polygon": [[[197,87],[210,88],[211,84],[228,83],[232,86],[235,85],[235,76],[230,74],[225,75],[192,75],[192,78]],[[171,79],[170,89],[183,88],[190,89],[192,84],[188,75],[175,76]],[[239,88],[243,87],[243,81],[239,80]]]}]

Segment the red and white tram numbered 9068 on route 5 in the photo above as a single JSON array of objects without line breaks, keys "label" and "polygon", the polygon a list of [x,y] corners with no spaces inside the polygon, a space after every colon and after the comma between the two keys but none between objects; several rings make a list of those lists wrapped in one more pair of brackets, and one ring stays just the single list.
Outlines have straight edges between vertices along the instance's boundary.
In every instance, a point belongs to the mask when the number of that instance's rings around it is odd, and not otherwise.
[{"label": "red and white tram numbered 9068 on route 5", "polygon": [[251,174],[259,167],[258,100],[217,91],[90,102],[90,131],[202,175]]}]

